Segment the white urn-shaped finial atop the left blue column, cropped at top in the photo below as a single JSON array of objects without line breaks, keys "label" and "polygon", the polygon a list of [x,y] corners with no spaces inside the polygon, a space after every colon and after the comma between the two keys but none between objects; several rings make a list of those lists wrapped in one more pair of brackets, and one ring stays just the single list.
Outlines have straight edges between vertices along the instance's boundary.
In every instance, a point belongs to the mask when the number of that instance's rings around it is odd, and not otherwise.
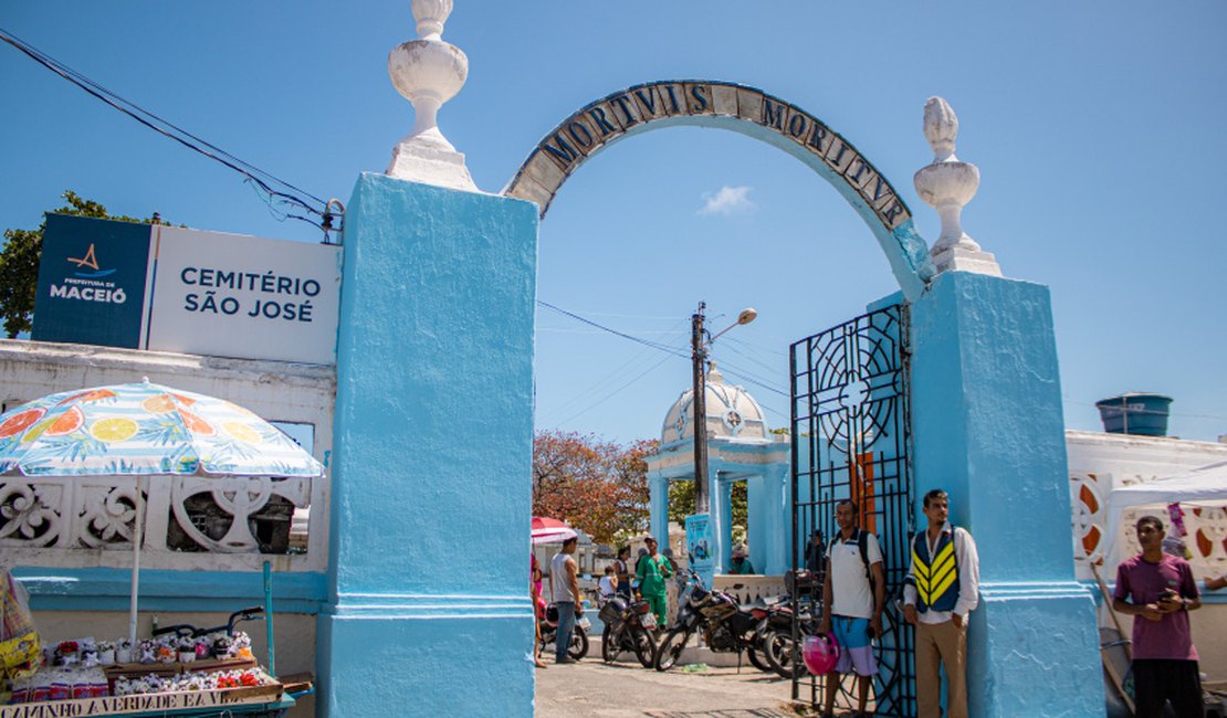
[{"label": "white urn-shaped finial atop the left blue column, cropped at top", "polygon": [[452,13],[452,0],[412,0],[417,21],[416,40],[388,54],[391,83],[413,103],[413,129],[393,149],[387,174],[398,179],[474,190],[464,154],[439,131],[438,113],[469,78],[469,58],[460,48],[443,42],[443,23]]}]

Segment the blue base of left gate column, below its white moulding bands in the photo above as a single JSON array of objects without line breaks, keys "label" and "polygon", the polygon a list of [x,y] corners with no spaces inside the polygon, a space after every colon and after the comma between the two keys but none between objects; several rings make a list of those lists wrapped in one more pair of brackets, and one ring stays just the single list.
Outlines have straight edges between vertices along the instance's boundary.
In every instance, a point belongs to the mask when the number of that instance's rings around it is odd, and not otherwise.
[{"label": "blue base of left gate column, below its white moulding bands", "polygon": [[[531,716],[533,618],[321,615],[328,716]],[[520,646],[515,659],[496,657]]]}]

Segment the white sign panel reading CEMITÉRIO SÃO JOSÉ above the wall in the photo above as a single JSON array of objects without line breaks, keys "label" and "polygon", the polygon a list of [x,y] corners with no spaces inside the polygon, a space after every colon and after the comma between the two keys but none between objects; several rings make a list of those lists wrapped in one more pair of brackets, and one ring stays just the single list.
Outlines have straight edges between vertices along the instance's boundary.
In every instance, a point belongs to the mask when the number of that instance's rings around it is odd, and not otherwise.
[{"label": "white sign panel reading CEMIT\u00c9RIO S\u00c3O JOS\u00c9 above the wall", "polygon": [[336,360],[341,249],[156,227],[146,348]]}]

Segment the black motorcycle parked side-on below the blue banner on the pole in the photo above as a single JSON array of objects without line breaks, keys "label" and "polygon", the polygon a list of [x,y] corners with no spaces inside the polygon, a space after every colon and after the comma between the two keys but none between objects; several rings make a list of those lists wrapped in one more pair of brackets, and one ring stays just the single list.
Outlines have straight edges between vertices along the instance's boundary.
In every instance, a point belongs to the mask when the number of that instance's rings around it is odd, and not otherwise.
[{"label": "black motorcycle parked side-on below the blue banner on the pole", "polygon": [[677,599],[677,618],[665,632],[653,665],[656,670],[669,670],[676,665],[682,649],[694,633],[699,633],[703,643],[717,653],[746,652],[750,663],[760,670],[771,670],[755,649],[755,627],[757,621],[750,609],[742,609],[737,602],[723,591],[708,591],[693,570],[687,570],[686,584]]}]

